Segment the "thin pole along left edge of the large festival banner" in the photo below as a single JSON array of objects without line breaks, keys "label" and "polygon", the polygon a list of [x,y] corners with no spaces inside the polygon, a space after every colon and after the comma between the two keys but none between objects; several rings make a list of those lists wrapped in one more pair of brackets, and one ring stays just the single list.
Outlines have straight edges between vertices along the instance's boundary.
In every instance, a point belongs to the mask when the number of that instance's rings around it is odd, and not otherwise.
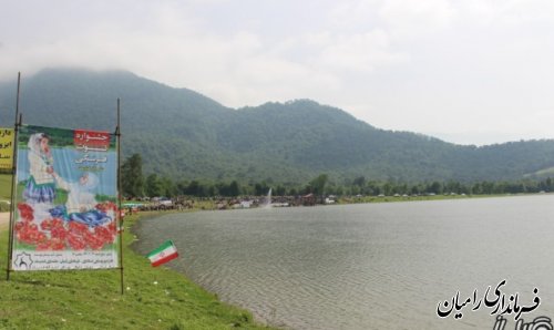
[{"label": "thin pole along left edge of the large festival banner", "polygon": [[11,271],[11,261],[12,261],[12,252],[13,252],[13,215],[16,207],[16,168],[18,163],[18,132],[21,126],[22,117],[19,113],[19,95],[21,90],[21,72],[18,72],[18,93],[16,96],[16,122],[13,130],[13,154],[12,154],[12,164],[11,164],[11,196],[10,196],[10,225],[8,233],[8,265],[6,267],[6,280],[10,280],[10,271]]}]

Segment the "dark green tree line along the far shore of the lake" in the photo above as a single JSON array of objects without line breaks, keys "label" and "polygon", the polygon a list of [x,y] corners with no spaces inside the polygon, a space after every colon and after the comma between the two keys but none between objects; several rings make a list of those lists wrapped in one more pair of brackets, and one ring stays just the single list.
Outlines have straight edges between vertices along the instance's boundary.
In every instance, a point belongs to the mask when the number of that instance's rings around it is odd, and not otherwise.
[{"label": "dark green tree line along the far shore of the lake", "polygon": [[305,184],[276,184],[268,178],[263,182],[239,183],[238,181],[172,181],[165,176],[142,173],[142,158],[138,154],[129,157],[122,166],[123,195],[126,197],[175,197],[196,196],[236,197],[245,195],[263,196],[269,188],[275,196],[296,195],[337,195],[337,196],[392,196],[392,195],[441,195],[441,194],[520,194],[554,192],[554,179],[526,179],[516,182],[480,181],[474,183],[422,182],[406,183],[396,181],[369,181],[365,176],[345,179],[341,183],[331,182],[327,174],[320,174]]}]

